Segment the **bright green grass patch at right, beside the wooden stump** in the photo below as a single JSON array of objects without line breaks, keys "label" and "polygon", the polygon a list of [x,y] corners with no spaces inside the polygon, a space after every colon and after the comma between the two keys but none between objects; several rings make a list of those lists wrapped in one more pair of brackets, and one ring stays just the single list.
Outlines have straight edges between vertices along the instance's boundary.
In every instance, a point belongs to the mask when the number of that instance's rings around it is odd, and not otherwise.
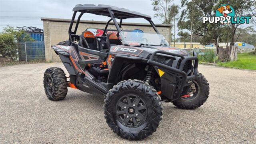
[{"label": "bright green grass patch at right, beside the wooden stump", "polygon": [[256,70],[256,55],[250,53],[237,54],[237,61],[218,62],[219,66]]}]

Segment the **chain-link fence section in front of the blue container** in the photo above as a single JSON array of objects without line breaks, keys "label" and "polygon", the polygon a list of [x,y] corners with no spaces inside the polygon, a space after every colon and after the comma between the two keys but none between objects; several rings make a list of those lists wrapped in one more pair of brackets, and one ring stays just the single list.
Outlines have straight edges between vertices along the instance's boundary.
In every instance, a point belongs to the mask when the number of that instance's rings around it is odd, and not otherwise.
[{"label": "chain-link fence section in front of the blue container", "polygon": [[45,50],[44,42],[17,42],[17,59],[18,61],[44,61]]}]

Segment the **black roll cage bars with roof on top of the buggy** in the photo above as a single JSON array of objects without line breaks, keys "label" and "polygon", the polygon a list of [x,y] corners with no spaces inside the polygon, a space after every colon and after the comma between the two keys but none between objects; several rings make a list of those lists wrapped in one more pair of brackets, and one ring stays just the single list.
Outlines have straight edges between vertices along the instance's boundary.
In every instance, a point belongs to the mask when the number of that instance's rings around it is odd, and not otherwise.
[{"label": "black roll cage bars with roof on top of the buggy", "polygon": [[[121,28],[122,28],[122,20],[127,19],[127,18],[144,18],[145,20],[147,20],[150,23],[150,25],[153,27],[155,32],[157,34],[160,34],[160,32],[157,30],[154,22],[151,20],[150,16],[141,14],[139,12],[130,11],[130,10],[127,10],[124,8],[118,8],[115,6],[108,6],[108,5],[103,5],[103,4],[99,4],[98,6],[96,6],[94,4],[84,4],[84,5],[77,4],[73,8],[73,11],[74,11],[74,13],[73,13],[72,20],[70,22],[70,26],[68,29],[70,43],[72,43],[74,40],[78,41],[80,39],[80,36],[76,35],[76,32],[77,32],[77,28],[78,28],[78,25],[80,22],[80,18],[85,13],[110,17],[110,20],[108,20],[108,22],[106,23],[106,26],[104,28],[103,36],[105,35],[108,25],[111,21],[113,21],[114,25],[116,26],[116,30],[118,31],[117,34],[119,36],[119,33],[121,32]],[[78,19],[76,20],[76,26],[74,28],[74,31],[72,31],[72,27],[75,22],[75,17],[76,17],[77,12],[80,12],[80,14],[78,16]],[[116,18],[120,19],[119,24],[116,21]],[[123,40],[122,36],[121,36],[121,39]]]}]

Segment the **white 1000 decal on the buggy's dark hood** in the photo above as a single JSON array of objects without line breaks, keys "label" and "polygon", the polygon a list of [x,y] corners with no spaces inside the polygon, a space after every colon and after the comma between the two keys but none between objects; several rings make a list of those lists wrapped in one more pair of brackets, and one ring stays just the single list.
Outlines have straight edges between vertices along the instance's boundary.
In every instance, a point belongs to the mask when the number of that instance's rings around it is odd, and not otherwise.
[{"label": "white 1000 decal on the buggy's dark hood", "polygon": [[125,46],[116,46],[112,47],[110,52],[118,52],[122,54],[130,54],[134,56],[138,56],[143,50],[136,47],[125,47]]}]

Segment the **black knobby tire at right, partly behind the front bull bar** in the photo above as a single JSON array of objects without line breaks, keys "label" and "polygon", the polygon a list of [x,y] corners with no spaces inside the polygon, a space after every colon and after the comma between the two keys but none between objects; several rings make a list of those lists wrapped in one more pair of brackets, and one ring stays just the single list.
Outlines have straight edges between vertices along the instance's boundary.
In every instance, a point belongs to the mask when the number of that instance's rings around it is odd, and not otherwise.
[{"label": "black knobby tire at right, partly behind the front bull bar", "polygon": [[182,109],[195,109],[204,104],[209,96],[209,84],[204,78],[204,75],[198,73],[194,79],[194,85],[196,86],[196,92],[193,96],[188,98],[178,98],[172,103],[178,108]]}]

